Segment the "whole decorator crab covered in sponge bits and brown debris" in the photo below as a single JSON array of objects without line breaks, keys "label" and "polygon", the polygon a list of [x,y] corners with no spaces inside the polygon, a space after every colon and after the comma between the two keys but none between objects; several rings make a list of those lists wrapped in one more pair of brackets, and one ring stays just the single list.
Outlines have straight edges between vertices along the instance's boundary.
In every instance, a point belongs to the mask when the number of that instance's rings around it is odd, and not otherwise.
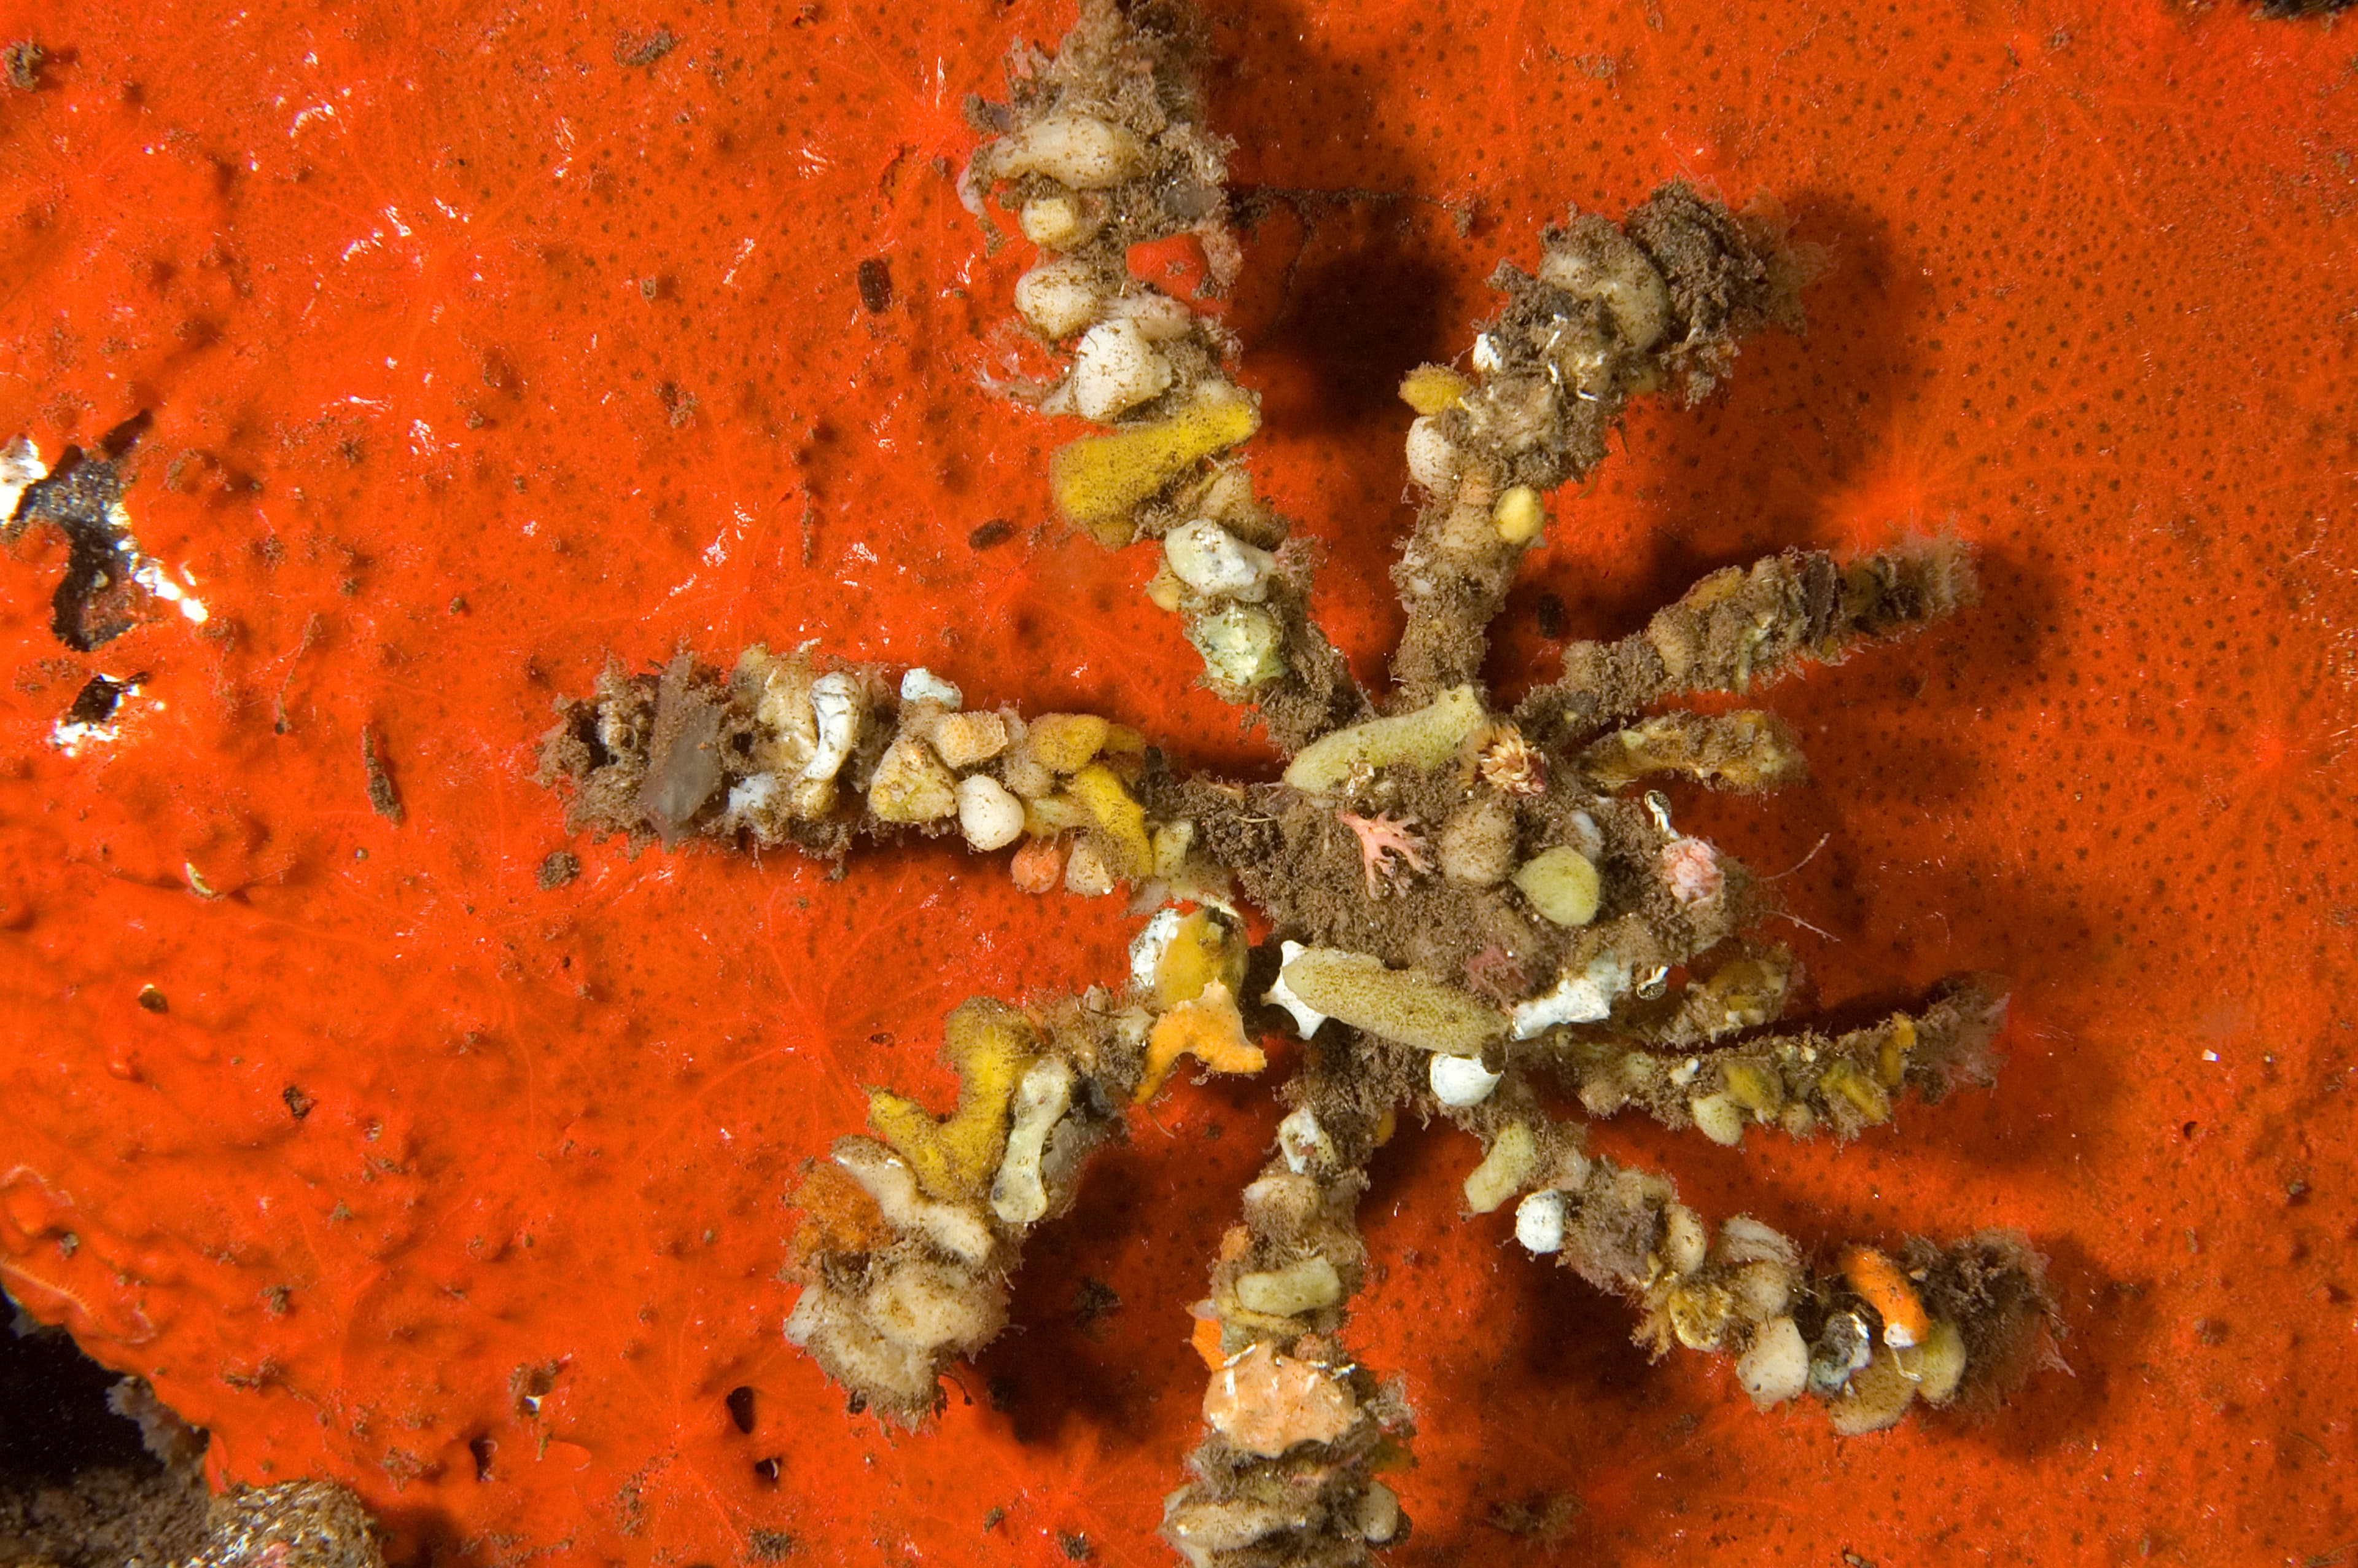
[{"label": "whole decorator crab covered in sponge bits and brown debris", "polygon": [[[1087,0],[1012,87],[971,111],[988,139],[960,193],[1038,248],[1014,304],[1063,373],[1005,391],[1104,424],[1054,455],[1056,507],[1106,547],[1158,552],[1148,597],[1285,769],[1184,773],[1104,717],[969,707],[927,670],[889,679],[814,648],[757,646],[729,670],[677,653],[559,703],[542,778],[571,790],[578,828],[832,861],[868,837],[957,835],[1009,851],[1028,891],[1127,887],[1155,908],[1118,990],[950,1014],[948,1115],[870,1092],[870,1134],[795,1193],[788,1337],[854,1405],[924,1422],[946,1365],[1007,1323],[1023,1238],[1063,1212],[1122,1108],[1186,1059],[1259,1073],[1262,1040],[1287,1033],[1304,1047],[1276,1148],[1193,1309],[1205,1438],[1162,1535],[1198,1568],[1358,1563],[1408,1530],[1384,1476],[1405,1464],[1410,1396],[1344,1346],[1368,1278],[1353,1210],[1403,1111],[1478,1141],[1469,1217],[1629,1299],[1658,1353],[1726,1356],[1761,1408],[1811,1398],[1865,1434],[2009,1391],[2054,1327],[2026,1240],[1849,1247],[1823,1266],[1589,1155],[1537,1092],[1554,1078],[1587,1115],[1636,1108],[1733,1146],[1752,1129],[1851,1139],[1889,1127],[1910,1089],[1936,1101],[1993,1078],[2004,997],[1988,981],[1842,1033],[1780,1028],[1802,974],[1754,936],[1768,887],[1648,790],[1797,785],[1806,762],[1773,714],[1651,710],[1752,693],[1964,608],[1959,547],[1717,571],[1641,632],[1570,646],[1511,712],[1481,684],[1549,490],[1603,460],[1627,401],[1707,396],[1747,332],[1799,323],[1778,236],[1672,184],[1620,224],[1573,215],[1533,271],[1497,269],[1507,302],[1464,361],[1401,384],[1427,505],[1394,568],[1396,689],[1375,700],[1309,618],[1309,552],[1254,498],[1238,448],[1259,408],[1229,377],[1236,344],[1127,269],[1134,245],[1174,236],[1203,250],[1207,288],[1238,266],[1196,33],[1167,7]],[[1245,903],[1266,943],[1247,941]]]}]

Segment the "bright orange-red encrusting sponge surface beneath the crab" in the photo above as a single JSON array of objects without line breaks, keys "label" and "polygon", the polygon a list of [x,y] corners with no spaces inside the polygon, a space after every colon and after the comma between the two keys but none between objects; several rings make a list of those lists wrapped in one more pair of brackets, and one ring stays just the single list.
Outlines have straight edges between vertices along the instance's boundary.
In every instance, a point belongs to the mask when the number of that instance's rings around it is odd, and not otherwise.
[{"label": "bright orange-red encrusting sponge surface beneath the crab", "polygon": [[[1042,356],[1028,248],[957,205],[962,99],[1068,24],[7,7],[42,54],[0,83],[0,441],[130,441],[182,599],[75,651],[66,540],[0,556],[0,1283],[215,1481],[332,1476],[439,1566],[1170,1561],[1186,1304],[1271,1078],[1134,1111],[1014,1330],[887,1434],[780,1337],[785,1195],[868,1087],[948,1111],[950,1007],[1118,981],[1137,920],[1005,854],[630,856],[531,780],[606,660],[804,639],[1269,776],[1153,552],[1054,521],[1073,431],[983,387]],[[1677,809],[1797,868],[1823,1004],[2007,976],[1997,1087],[1844,1151],[1599,1146],[1827,1243],[2016,1226],[2068,1370],[1872,1438],[1759,1417],[1462,1221],[1478,1151],[1410,1118],[1349,1337],[1420,1419],[1391,1561],[2341,1561],[2358,38],[2181,0],[1210,0],[1207,35],[1250,462],[1365,677],[1401,375],[1568,205],[1669,177],[1773,198],[1811,330],[1549,500],[1497,689],[1787,545],[1952,533],[1985,578],[1754,693],[1809,785]],[[137,691],[59,729],[99,674]]]}]

